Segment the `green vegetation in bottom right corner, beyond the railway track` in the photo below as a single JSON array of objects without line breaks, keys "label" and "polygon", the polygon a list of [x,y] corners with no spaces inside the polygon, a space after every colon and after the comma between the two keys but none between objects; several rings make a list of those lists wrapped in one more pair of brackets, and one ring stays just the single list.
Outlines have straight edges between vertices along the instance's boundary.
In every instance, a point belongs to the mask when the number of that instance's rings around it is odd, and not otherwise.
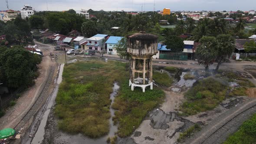
[{"label": "green vegetation in bottom right corner, beyond the railway track", "polygon": [[256,114],[245,121],[240,129],[230,135],[224,144],[255,144],[256,143]]}]

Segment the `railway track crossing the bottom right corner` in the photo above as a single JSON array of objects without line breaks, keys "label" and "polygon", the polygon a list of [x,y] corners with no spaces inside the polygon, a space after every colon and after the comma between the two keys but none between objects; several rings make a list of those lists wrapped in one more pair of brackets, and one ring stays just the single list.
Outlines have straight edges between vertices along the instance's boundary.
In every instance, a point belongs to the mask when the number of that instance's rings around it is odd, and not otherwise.
[{"label": "railway track crossing the bottom right corner", "polygon": [[237,126],[240,126],[243,121],[246,119],[246,115],[250,115],[252,113],[256,113],[256,104],[250,106],[249,108],[240,111],[238,114],[234,115],[229,121],[226,121],[219,128],[216,128],[212,133],[210,133],[207,137],[204,138],[200,144],[219,144],[222,141],[225,141],[225,137],[223,134],[237,131]]}]

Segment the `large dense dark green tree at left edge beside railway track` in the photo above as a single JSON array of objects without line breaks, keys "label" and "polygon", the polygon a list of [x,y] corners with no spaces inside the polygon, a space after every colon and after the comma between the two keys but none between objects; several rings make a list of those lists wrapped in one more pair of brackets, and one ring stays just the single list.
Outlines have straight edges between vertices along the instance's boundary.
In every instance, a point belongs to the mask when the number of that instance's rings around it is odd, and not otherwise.
[{"label": "large dense dark green tree at left edge beside railway track", "polygon": [[29,86],[41,58],[21,46],[0,49],[0,79],[12,88]]}]

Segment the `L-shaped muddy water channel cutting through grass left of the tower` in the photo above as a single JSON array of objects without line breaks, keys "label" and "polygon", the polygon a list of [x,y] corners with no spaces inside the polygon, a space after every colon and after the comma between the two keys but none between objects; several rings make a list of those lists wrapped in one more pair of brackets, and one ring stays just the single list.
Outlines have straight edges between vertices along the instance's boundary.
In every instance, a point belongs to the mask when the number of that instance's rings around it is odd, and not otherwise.
[{"label": "L-shaped muddy water channel cutting through grass left of the tower", "polygon": [[[110,94],[111,105],[114,103],[115,96],[118,94],[119,86],[117,82],[114,83],[114,86],[112,87],[113,92]],[[114,125],[114,122],[112,121],[112,118],[115,116],[115,110],[110,107],[111,112],[111,118],[109,119],[110,129],[109,133],[103,137],[92,139],[89,137],[86,137],[82,134],[76,134],[76,135],[69,135],[66,133],[60,133],[58,135],[58,142],[64,142],[66,144],[107,144],[107,138],[113,137],[115,135],[115,132],[117,132],[117,125]],[[57,142],[57,143],[58,143]]]}]

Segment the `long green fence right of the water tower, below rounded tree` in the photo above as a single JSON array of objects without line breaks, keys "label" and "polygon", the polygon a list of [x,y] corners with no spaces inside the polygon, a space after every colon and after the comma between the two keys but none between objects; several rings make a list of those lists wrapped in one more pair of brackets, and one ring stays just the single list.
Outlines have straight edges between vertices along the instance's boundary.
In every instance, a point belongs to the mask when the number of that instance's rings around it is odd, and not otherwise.
[{"label": "long green fence right of the water tower, below rounded tree", "polygon": [[187,55],[184,52],[167,52],[167,53],[160,53],[159,59],[187,61]]}]

